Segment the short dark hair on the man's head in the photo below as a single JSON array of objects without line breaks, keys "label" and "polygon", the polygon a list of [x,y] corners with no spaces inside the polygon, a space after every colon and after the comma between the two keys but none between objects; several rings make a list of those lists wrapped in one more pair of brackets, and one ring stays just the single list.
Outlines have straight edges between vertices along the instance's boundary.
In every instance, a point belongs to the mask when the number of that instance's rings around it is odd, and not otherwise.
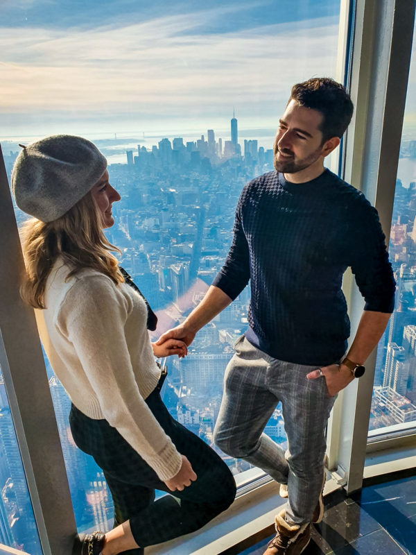
[{"label": "short dark hair on the man's head", "polygon": [[354,112],[345,87],[329,77],[315,77],[293,85],[291,99],[305,108],[321,112],[322,143],[331,137],[342,137]]}]

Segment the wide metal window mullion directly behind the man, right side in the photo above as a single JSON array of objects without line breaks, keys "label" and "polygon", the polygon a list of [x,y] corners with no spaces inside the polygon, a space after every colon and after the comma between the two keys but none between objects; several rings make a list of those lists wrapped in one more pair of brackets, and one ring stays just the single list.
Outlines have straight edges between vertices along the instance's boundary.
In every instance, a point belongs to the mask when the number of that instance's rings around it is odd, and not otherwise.
[{"label": "wide metal window mullion directly behind the man, right side", "polygon": [[[365,192],[379,210],[388,237],[395,196],[401,128],[415,15],[414,0],[357,0],[351,93],[356,106],[345,145],[345,179]],[[351,276],[345,280],[352,338],[363,300]],[[338,466],[347,491],[361,488],[370,420],[376,350],[367,373],[340,395]]]}]

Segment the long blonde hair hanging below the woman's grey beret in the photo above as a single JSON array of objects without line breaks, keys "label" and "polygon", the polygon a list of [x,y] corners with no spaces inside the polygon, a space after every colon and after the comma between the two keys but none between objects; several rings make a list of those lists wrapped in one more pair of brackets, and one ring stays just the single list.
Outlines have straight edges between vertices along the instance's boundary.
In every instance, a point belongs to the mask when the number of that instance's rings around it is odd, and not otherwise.
[{"label": "long blonde hair hanging below the woman's grey beret", "polygon": [[91,193],[54,221],[26,221],[21,228],[21,241],[27,275],[20,294],[35,308],[46,308],[46,280],[58,257],[71,268],[68,279],[84,268],[93,268],[108,275],[115,284],[124,281],[111,252],[121,251],[105,237],[101,214]]}]

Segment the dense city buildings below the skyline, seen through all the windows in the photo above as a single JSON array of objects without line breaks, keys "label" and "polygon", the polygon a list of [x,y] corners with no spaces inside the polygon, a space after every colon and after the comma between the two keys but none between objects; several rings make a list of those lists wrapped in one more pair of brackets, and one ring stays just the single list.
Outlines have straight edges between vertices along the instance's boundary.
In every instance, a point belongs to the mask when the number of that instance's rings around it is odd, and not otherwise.
[{"label": "dense city buildings below the skyline, seen through all the windows", "polygon": [[[124,148],[123,163],[109,166],[110,182],[120,192],[121,202],[114,204],[116,223],[107,230],[107,237],[121,249],[121,265],[157,312],[153,338],[182,321],[200,302],[227,255],[241,189],[254,176],[273,169],[272,148],[265,150],[257,139],[245,139],[241,149],[235,117],[230,135],[231,140],[223,141],[209,129],[191,141],[162,137],[151,148],[139,142],[134,150]],[[110,153],[108,142],[96,144],[105,155]],[[5,156],[9,177],[16,155],[12,150]],[[416,160],[415,141],[402,145],[401,160],[406,159]],[[25,217],[18,210],[16,214],[19,222]],[[397,180],[390,259],[397,299],[379,345],[371,429],[416,421],[416,183],[412,181]],[[167,361],[168,378],[162,390],[166,406],[212,447],[223,373],[234,341],[247,327],[249,302],[246,288],[197,334],[186,358]],[[92,458],[73,444],[69,398],[47,361],[46,368],[78,527],[103,529],[105,522],[108,526],[112,522],[105,478]],[[26,486],[23,470],[12,470],[19,450],[6,395],[1,395],[0,543],[17,545],[15,530],[28,510],[21,506]],[[266,433],[285,445],[280,406]],[[245,461],[220,455],[235,474],[250,468]],[[25,499],[28,504],[27,493]],[[33,545],[28,552],[40,553]]]}]

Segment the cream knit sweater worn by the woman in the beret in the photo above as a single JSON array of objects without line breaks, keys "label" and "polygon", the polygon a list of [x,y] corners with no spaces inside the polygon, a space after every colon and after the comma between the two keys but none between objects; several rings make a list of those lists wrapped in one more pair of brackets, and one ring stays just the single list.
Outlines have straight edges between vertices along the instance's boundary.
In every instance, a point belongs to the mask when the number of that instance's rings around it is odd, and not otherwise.
[{"label": "cream knit sweater worn by the woman in the beret", "polygon": [[144,401],[160,370],[146,330],[147,308],[128,284],[85,269],[66,280],[58,262],[38,310],[42,343],[73,404],[89,418],[105,418],[161,480],[182,458]]}]

